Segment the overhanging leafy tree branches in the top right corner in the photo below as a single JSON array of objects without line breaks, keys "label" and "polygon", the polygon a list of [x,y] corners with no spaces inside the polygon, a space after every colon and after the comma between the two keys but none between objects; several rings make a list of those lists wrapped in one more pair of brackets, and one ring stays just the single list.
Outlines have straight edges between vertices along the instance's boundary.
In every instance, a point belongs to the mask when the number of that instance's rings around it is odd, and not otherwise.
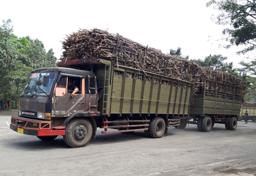
[{"label": "overhanging leafy tree branches in the top right corner", "polygon": [[232,45],[245,45],[237,54],[256,49],[256,1],[249,0],[211,0],[206,6],[219,10],[216,24],[229,24],[232,28],[223,29],[223,39]]}]

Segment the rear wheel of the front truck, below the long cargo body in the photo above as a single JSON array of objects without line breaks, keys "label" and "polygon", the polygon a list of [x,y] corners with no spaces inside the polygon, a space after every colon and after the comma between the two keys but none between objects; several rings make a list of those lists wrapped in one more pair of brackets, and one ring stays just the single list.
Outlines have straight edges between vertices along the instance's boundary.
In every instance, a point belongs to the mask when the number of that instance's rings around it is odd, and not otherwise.
[{"label": "rear wheel of the front truck, below the long cargo body", "polygon": [[161,138],[164,135],[165,123],[162,117],[155,117],[149,124],[149,135],[152,138]]}]

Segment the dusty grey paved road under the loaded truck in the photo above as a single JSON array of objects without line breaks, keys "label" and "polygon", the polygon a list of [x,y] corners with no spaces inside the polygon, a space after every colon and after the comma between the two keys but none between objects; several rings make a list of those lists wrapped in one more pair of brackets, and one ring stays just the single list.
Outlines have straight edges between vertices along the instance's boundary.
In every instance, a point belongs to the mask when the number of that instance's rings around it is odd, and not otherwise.
[{"label": "dusty grey paved road under the loaded truck", "polygon": [[211,132],[170,127],[168,136],[144,132],[102,134],[84,148],[69,148],[62,136],[45,142],[12,131],[11,114],[0,112],[0,175],[256,175],[256,123],[235,131],[215,124]]}]

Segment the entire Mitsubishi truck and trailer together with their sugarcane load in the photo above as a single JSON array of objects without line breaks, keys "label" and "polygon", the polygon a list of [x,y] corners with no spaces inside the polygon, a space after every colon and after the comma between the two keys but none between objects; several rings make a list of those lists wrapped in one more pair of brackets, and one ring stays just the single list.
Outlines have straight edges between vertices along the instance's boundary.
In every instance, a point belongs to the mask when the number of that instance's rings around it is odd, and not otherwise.
[{"label": "entire Mitsubishi truck and trailer together with their sugarcane load", "polygon": [[[235,130],[244,84],[226,73],[201,68],[120,35],[82,30],[63,43],[58,67],[33,70],[10,128],[70,147],[84,147],[102,133],[144,131],[152,138],[168,127],[214,123]],[[220,81],[221,80],[221,81]],[[75,96],[68,81],[79,89]]]}]

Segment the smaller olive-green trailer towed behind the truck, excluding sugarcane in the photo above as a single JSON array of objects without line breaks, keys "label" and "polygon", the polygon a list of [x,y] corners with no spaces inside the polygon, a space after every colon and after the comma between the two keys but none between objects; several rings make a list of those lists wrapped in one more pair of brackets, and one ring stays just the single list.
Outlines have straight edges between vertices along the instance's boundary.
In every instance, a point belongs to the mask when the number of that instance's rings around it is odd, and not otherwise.
[{"label": "smaller olive-green trailer towed behind the truck, excluding sugarcane", "polygon": [[[187,124],[196,124],[198,131],[209,132],[214,124],[225,124],[227,130],[236,130],[242,103],[242,84],[239,86],[204,79],[204,85],[208,83],[212,84],[212,89],[204,88],[194,96],[189,115],[180,117],[177,128],[184,129]],[[220,87],[223,91],[220,91]],[[228,89],[236,93],[229,93]]]}]

